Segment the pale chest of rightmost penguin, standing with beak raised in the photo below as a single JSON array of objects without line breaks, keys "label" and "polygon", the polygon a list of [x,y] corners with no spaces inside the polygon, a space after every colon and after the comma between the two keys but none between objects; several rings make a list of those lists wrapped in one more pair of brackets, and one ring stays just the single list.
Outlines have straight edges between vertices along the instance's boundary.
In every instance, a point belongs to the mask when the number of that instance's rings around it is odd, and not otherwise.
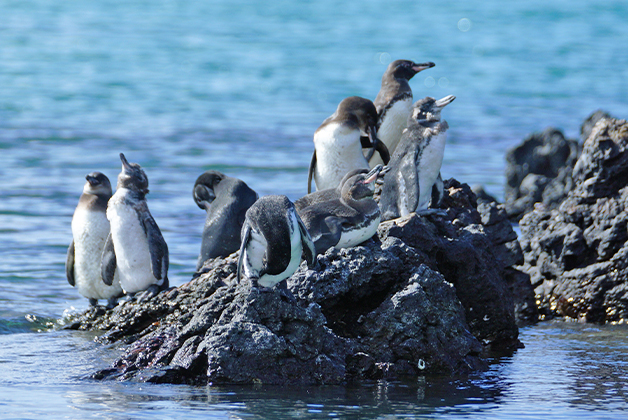
[{"label": "pale chest of rightmost penguin, standing with beak raised", "polygon": [[438,178],[445,155],[446,132],[439,132],[429,138],[423,147],[419,162],[417,162],[417,177],[419,179],[419,205],[417,210],[426,209],[432,198],[432,186]]}]

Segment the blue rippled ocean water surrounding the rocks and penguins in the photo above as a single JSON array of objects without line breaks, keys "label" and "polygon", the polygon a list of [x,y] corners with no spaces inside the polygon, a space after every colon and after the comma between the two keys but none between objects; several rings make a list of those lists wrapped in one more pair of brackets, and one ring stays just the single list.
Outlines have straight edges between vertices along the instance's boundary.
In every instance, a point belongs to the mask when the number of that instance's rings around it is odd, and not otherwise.
[{"label": "blue rippled ocean water surrounding the rocks and penguins", "polygon": [[58,326],[87,308],[64,272],[84,176],[115,179],[120,152],[146,170],[179,285],[196,177],[298,198],[314,130],[344,97],[374,99],[394,59],[436,63],[415,99],[456,95],[443,176],[501,198],[528,134],[628,117],[626,22],[620,0],[1,1],[0,417],[625,418],[622,325],[522,329],[525,349],[470,377],[307,389],[91,381],[120,349]]}]

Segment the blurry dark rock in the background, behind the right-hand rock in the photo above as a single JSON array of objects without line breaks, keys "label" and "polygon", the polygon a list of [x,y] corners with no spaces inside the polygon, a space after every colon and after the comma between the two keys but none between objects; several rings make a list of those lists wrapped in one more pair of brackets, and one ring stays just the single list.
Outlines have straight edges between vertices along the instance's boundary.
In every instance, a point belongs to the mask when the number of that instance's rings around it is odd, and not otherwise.
[{"label": "blurry dark rock in the background, behind the right-hand rock", "polygon": [[571,173],[580,147],[560,130],[548,128],[534,133],[506,154],[504,199],[508,216],[519,220],[543,203],[556,207],[573,187]]}]

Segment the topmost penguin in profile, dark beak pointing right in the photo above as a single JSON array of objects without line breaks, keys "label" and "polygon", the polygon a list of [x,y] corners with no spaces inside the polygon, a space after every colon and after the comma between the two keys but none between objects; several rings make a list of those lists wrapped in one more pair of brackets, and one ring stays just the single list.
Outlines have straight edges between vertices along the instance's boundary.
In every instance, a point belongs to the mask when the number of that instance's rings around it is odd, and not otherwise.
[{"label": "topmost penguin in profile, dark beak pointing right", "polygon": [[[410,60],[395,60],[382,76],[382,86],[373,103],[378,117],[377,137],[384,142],[391,155],[412,111],[412,89],[408,81],[434,65],[431,61],[417,64]],[[376,155],[369,160],[371,168],[381,163],[386,162]]]}]

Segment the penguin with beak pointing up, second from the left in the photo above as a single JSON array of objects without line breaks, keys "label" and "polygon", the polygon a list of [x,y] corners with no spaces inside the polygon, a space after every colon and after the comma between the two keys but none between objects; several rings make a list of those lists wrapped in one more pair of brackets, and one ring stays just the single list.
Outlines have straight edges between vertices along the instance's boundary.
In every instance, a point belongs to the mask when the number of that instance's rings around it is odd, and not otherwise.
[{"label": "penguin with beak pointing up, second from the left", "polygon": [[146,290],[146,297],[168,288],[168,245],[148,210],[148,178],[137,163],[120,153],[122,171],[116,193],[109,200],[111,233],[102,256],[102,278],[111,284],[117,268],[128,294]]}]

